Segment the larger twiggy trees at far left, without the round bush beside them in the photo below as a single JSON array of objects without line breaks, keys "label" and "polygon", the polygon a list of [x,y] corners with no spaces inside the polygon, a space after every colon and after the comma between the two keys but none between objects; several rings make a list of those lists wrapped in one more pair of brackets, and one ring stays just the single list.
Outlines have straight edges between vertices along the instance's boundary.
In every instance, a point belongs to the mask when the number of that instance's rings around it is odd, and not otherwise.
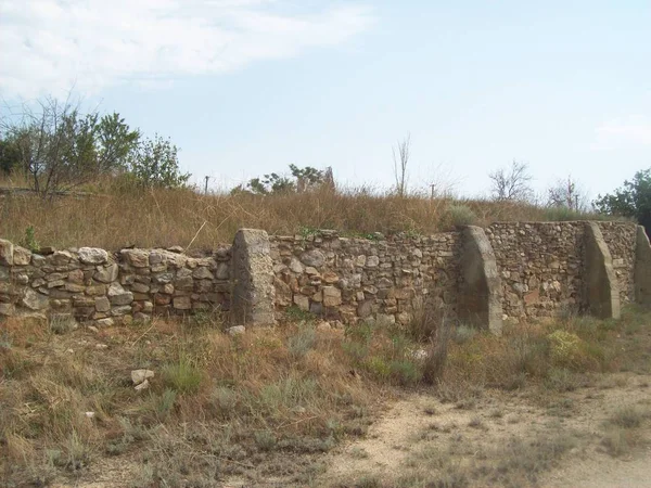
[{"label": "larger twiggy trees at far left, without the round bush beside them", "polygon": [[12,144],[17,163],[41,196],[92,181],[124,168],[140,133],[117,114],[81,115],[69,102],[39,102],[25,110],[20,121],[2,120],[3,138]]}]

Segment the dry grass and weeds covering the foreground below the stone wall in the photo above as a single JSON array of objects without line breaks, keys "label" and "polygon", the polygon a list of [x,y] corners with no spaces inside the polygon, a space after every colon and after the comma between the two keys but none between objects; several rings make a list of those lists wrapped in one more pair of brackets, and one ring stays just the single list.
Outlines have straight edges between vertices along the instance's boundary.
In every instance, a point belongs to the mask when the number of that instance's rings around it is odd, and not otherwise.
[{"label": "dry grass and weeds covering the foreground below the stone wall", "polygon": [[[462,422],[481,433],[507,415],[513,395],[527,409],[563,413],[567,395],[609,375],[651,374],[651,314],[637,308],[620,321],[512,324],[500,337],[422,320],[404,330],[336,329],[290,310],[276,329],[235,336],[209,317],[101,330],[5,320],[3,486],[535,485],[580,436],[541,431],[520,439],[535,449],[485,448],[480,464],[460,461],[463,450],[434,455],[414,440],[393,480],[348,473],[333,485],[329,457],[365,439],[385,404],[410,395],[436,400],[421,409],[427,419],[441,409],[464,412]],[[427,331],[437,339],[423,341]],[[154,377],[137,391],[130,373],[143,368]],[[480,410],[487,398],[499,401]],[[648,404],[613,411],[600,446],[612,457],[644,446],[650,411]],[[432,425],[418,438],[450,431]],[[347,458],[355,455],[366,454]]]}]

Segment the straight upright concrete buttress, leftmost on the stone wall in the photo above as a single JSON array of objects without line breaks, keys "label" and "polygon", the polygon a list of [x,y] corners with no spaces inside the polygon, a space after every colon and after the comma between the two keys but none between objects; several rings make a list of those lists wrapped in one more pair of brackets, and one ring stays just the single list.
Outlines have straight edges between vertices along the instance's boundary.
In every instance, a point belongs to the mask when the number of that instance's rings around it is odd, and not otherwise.
[{"label": "straight upright concrete buttress, leftmost on the stone wall", "polygon": [[240,325],[272,325],[273,264],[264,230],[240,229],[232,248],[232,320]]}]

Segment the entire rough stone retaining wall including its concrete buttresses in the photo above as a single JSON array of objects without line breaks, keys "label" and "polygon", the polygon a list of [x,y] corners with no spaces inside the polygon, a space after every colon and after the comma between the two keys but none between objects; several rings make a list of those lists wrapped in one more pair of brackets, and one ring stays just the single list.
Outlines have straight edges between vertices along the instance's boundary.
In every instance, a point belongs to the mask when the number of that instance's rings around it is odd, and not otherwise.
[{"label": "entire rough stone retaining wall including its concrete buttresses", "polygon": [[199,258],[178,247],[38,254],[0,240],[0,317],[68,314],[105,325],[230,310],[232,325],[270,325],[296,307],[347,324],[406,324],[431,306],[499,333],[506,319],[616,317],[620,304],[651,304],[651,246],[629,222],[368,237],[243,229],[231,247]]}]

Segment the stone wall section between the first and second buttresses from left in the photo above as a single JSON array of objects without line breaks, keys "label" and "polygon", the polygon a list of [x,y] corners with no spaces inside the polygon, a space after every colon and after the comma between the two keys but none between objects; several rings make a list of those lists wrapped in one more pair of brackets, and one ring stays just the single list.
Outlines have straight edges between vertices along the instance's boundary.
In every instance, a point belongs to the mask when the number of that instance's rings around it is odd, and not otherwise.
[{"label": "stone wall section between the first and second buttresses from left", "polygon": [[277,308],[295,305],[346,323],[407,323],[427,297],[456,312],[459,232],[372,237],[271,236]]}]

